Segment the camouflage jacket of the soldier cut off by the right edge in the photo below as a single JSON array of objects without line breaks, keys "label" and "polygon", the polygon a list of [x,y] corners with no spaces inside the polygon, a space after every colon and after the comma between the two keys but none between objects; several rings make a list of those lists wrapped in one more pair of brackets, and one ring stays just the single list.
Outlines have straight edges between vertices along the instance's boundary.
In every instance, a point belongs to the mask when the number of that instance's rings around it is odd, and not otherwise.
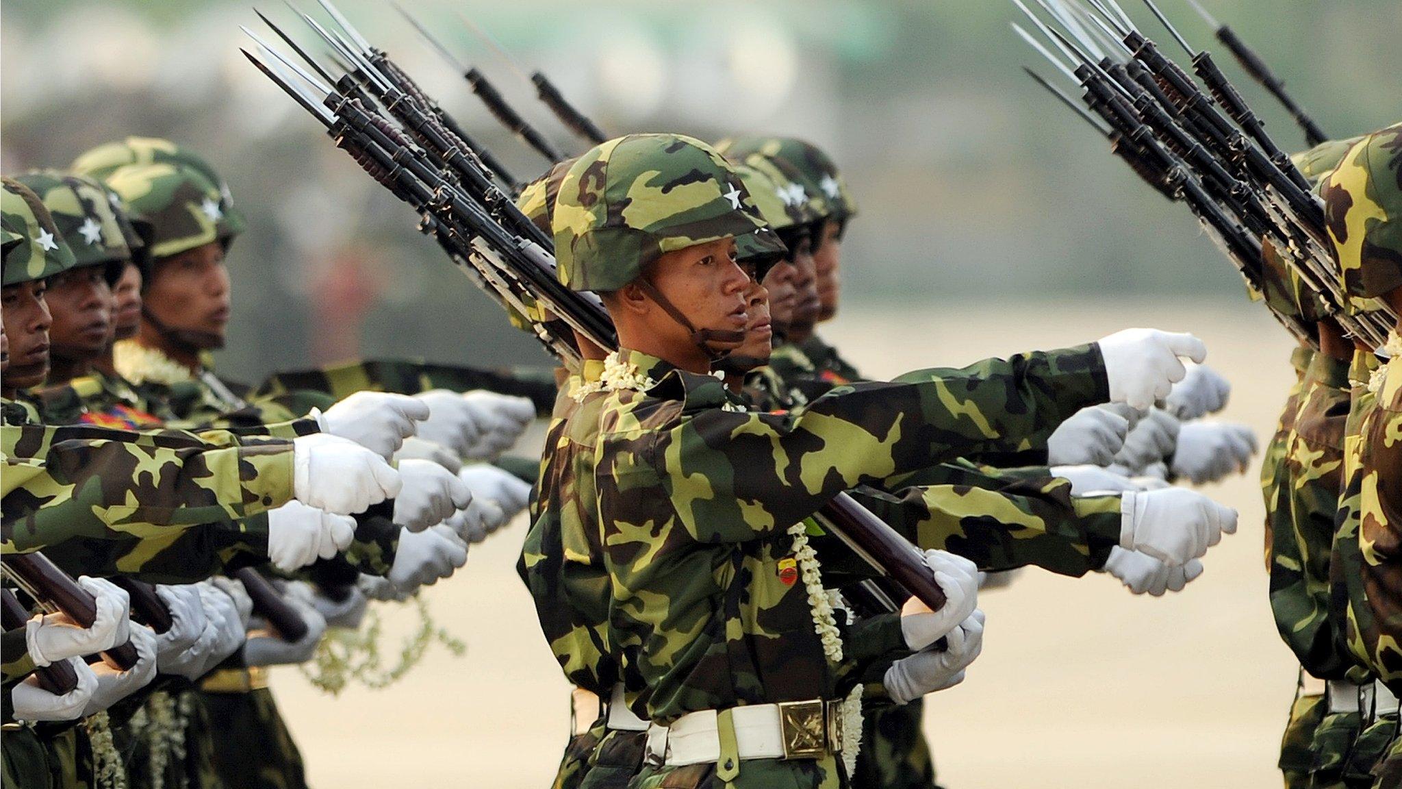
[{"label": "camouflage jacket of the soldier cut off by the right edge", "polygon": [[1356,611],[1357,639],[1374,672],[1402,692],[1402,358],[1368,385],[1359,432],[1345,459],[1349,496],[1357,496],[1359,556],[1367,616]]}]

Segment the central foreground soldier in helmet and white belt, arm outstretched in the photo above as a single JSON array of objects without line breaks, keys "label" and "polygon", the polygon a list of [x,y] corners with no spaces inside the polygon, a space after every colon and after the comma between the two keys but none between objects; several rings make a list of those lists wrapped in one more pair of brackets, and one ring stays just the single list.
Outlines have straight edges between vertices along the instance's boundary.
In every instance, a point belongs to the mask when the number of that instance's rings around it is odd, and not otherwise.
[{"label": "central foreground soldier in helmet and white belt, arm outstretched", "polygon": [[[653,184],[652,191],[644,191],[635,183],[644,173]],[[687,174],[688,190],[656,188],[681,174]],[[625,219],[629,212],[610,211],[624,194],[634,195],[637,205],[646,208],[634,215],[634,222],[644,225],[629,226]],[[735,174],[702,143],[672,135],[639,135],[611,140],[580,157],[566,174],[555,208],[554,229],[562,277],[571,288],[604,293],[625,347],[610,357],[600,380],[600,396],[606,402],[600,413],[601,431],[596,448],[600,465],[594,477],[614,598],[611,640],[624,654],[628,670],[639,677],[638,682],[629,682],[629,688],[639,688],[629,706],[652,720],[649,768],[635,781],[639,785],[667,778],[690,783],[711,771],[723,781],[743,776],[754,783],[767,783],[767,778],[778,775],[813,785],[824,776],[838,781],[834,760],[841,743],[819,738],[815,761],[777,761],[782,754],[768,752],[750,734],[742,737],[743,743],[730,736],[732,730],[744,727],[732,729],[732,720],[742,716],[729,708],[751,708],[744,716],[765,715],[771,709],[765,705],[771,701],[815,695],[833,698],[838,692],[838,688],[830,687],[833,675],[823,657],[824,650],[831,653],[840,649],[831,643],[831,630],[824,628],[831,625],[830,614],[823,606],[816,612],[809,609],[792,588],[785,587],[780,563],[789,553],[788,541],[795,532],[778,535],[775,526],[801,519],[826,496],[847,487],[844,477],[851,480],[869,475],[869,470],[862,470],[865,463],[885,468],[883,473],[889,476],[901,470],[904,463],[924,466],[937,462],[956,445],[966,452],[1011,448],[1025,439],[1002,437],[1023,428],[1021,423],[1026,414],[1060,411],[1064,417],[1105,397],[1103,379],[1096,382],[1105,375],[1105,362],[1099,361],[1102,357],[1096,351],[1084,350],[1037,358],[1032,364],[1035,369],[1023,368],[1033,379],[1039,371],[1060,369],[1057,396],[1063,400],[1037,396],[1019,403],[1015,410],[1023,414],[1021,417],[1004,414],[990,400],[987,406],[997,414],[990,417],[990,427],[997,425],[993,435],[980,431],[974,438],[953,424],[959,421],[955,418],[942,430],[927,434],[908,425],[911,431],[903,435],[920,435],[910,442],[878,441],[865,446],[861,438],[864,428],[857,428],[850,420],[861,413],[861,424],[869,427],[897,416],[917,418],[917,423],[942,421],[949,417],[937,416],[945,413],[937,392],[959,378],[960,392],[977,399],[977,382],[986,376],[998,379],[1009,369],[1002,362],[986,362],[979,372],[946,371],[942,379],[925,383],[843,389],[816,400],[802,413],[788,416],[743,413],[743,409],[733,407],[725,387],[705,373],[711,359],[719,355],[716,343],[733,344],[729,337],[743,327],[747,317],[740,299],[747,278],[730,263],[733,237],[756,233],[764,225],[753,216],[753,208],[744,199]],[[620,246],[624,239],[632,239],[629,246]],[[679,307],[679,303],[687,307]],[[1164,364],[1165,354],[1172,355],[1172,351],[1161,344],[1162,336],[1148,336],[1154,340],[1136,341],[1134,357],[1157,359],[1150,364],[1152,368]],[[1108,338],[1102,344],[1106,348],[1103,358],[1112,359],[1108,362],[1109,379],[1115,383],[1109,389],[1116,397],[1131,396],[1143,402],[1143,387],[1161,386],[1159,380],[1166,389],[1168,379],[1159,378],[1166,373],[1150,373],[1145,368],[1131,373],[1133,385],[1122,383],[1126,379],[1117,361],[1119,347],[1119,338]],[[1155,347],[1157,351],[1152,350]],[[1075,358],[1074,366],[1085,372],[1073,373],[1052,361],[1061,358]],[[995,389],[1000,397],[1019,392],[1001,383]],[[683,394],[684,410],[677,400]],[[910,410],[916,403],[923,407],[920,417]],[[836,430],[845,430],[840,425],[855,430],[845,434],[841,456],[830,456],[820,449],[827,428],[819,427],[819,423],[829,418]],[[878,428],[876,432],[883,431]],[[1030,430],[1022,432],[1035,435]],[[791,463],[798,463],[805,453],[817,452],[802,460],[803,466],[819,463],[812,466],[819,469],[817,476],[805,472],[802,482],[799,477],[778,476],[763,466],[764,459],[771,456],[768,449],[744,452],[747,435],[777,452],[799,452],[789,456]],[[801,445],[806,449],[799,451]],[[673,456],[674,452],[679,453]],[[761,465],[754,465],[756,460]],[[796,473],[799,466],[791,468]],[[822,468],[829,468],[829,472],[822,473]],[[704,477],[688,477],[702,473],[702,469]],[[655,482],[644,483],[645,479]],[[690,487],[686,479],[707,479],[707,490]],[[840,487],[831,490],[831,484]],[[754,504],[744,515],[730,501]],[[651,536],[645,536],[627,525],[634,522],[656,526]],[[1207,538],[1218,528],[1206,521],[1195,522],[1193,528],[1197,526],[1206,528],[1200,533]],[[663,531],[656,532],[656,528]],[[635,559],[644,545],[649,557],[645,563]],[[1206,542],[1202,546],[1206,548]],[[801,574],[816,573],[810,555],[802,546],[798,550],[805,562]],[[932,553],[931,562],[939,564],[939,556]],[[732,570],[712,576],[705,570],[686,569],[695,563]],[[700,585],[669,587],[681,578],[697,578]],[[716,595],[715,599],[708,599],[711,595]],[[722,599],[726,595],[737,595],[735,599],[740,608],[725,605]],[[972,590],[959,597],[972,598]],[[658,602],[642,604],[644,599]],[[663,599],[667,601],[665,605],[660,604]],[[972,611],[972,601],[965,605]],[[750,606],[757,606],[750,614],[758,621],[743,614]],[[721,612],[721,619],[705,615],[708,609]],[[911,611],[911,616],[945,621],[932,629],[937,632],[963,622],[963,611],[946,609],[939,615],[928,609],[923,614],[917,611]],[[733,621],[722,630],[726,619]],[[747,653],[757,656],[757,663],[735,663],[739,656],[733,653],[729,658],[723,657],[725,639],[721,633],[735,630],[732,637],[747,642],[754,637],[750,628],[757,622],[765,622],[761,626],[775,642]],[[810,626],[815,622],[816,630]],[[819,637],[819,632],[829,637]],[[751,644],[751,649],[757,646]],[[712,657],[704,658],[707,654]],[[784,656],[782,665],[780,656]],[[709,664],[715,667],[709,668]],[[722,668],[726,665],[729,671]],[[824,706],[836,712],[840,705],[817,703],[813,709]],[[843,706],[850,710],[852,703]],[[716,715],[715,710],[725,712]],[[777,737],[778,724],[774,726]],[[697,736],[681,737],[683,730],[693,727]],[[677,737],[669,741],[669,731],[673,730]],[[722,747],[726,752],[718,755]],[[746,761],[743,768],[740,760]]]}]

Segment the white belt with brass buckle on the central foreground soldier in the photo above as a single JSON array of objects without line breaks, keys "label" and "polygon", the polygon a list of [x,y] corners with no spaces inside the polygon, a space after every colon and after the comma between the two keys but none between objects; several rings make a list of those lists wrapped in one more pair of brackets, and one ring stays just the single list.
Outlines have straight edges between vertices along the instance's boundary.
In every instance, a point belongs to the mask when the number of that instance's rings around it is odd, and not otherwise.
[{"label": "white belt with brass buckle on the central foreground soldier", "polygon": [[[841,702],[817,699],[730,708],[736,755],[743,761],[837,752],[843,744],[841,708]],[[680,767],[719,760],[719,713],[714,709],[683,715],[672,726],[648,727],[648,764]]]}]

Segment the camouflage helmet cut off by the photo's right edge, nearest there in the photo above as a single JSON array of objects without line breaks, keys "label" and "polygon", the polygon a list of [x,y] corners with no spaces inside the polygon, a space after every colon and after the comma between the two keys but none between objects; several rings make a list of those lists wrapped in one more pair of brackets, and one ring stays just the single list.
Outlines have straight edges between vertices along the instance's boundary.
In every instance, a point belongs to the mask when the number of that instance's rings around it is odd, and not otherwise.
[{"label": "camouflage helmet cut off by the photo's right edge, nearest there", "polygon": [[1402,124],[1350,147],[1322,195],[1349,298],[1371,299],[1402,286]]}]

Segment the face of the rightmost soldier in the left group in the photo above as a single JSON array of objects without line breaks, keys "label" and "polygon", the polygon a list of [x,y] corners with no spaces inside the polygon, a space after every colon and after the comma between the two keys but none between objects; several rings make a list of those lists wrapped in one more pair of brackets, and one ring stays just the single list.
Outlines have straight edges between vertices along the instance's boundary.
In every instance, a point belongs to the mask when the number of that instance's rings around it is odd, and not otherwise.
[{"label": "face of the rightmost soldier in the left group", "polygon": [[229,326],[229,271],[219,241],[161,258],[144,293],[146,309],[171,330],[207,337],[222,347]]}]

